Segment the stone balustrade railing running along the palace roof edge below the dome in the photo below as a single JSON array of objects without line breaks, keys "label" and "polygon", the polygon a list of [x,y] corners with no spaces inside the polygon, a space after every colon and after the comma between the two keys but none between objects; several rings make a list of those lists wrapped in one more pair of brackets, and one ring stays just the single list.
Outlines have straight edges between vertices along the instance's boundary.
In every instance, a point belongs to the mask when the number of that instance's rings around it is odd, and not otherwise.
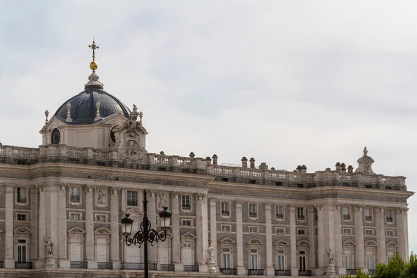
[{"label": "stone balustrade railing running along the palace roof edge below the dome", "polygon": [[[71,147],[67,145],[47,145],[39,148],[26,148],[0,145],[0,163],[13,163],[13,161],[31,161],[30,164],[44,163],[48,157],[63,158],[63,160],[81,161],[118,161],[115,151],[92,149],[90,147]],[[7,159],[6,159],[7,158]],[[382,174],[363,174],[359,172],[345,172],[336,170],[317,171],[314,173],[289,172],[286,170],[273,170],[266,167],[239,167],[238,165],[215,165],[206,163],[206,159],[197,157],[167,156],[165,154],[149,153],[142,164],[155,165],[156,170],[161,167],[179,167],[190,170],[206,170],[207,174],[218,177],[236,177],[239,179],[264,179],[277,182],[292,183],[370,183],[380,186],[405,186],[404,177],[389,177]],[[94,163],[94,162],[93,162]],[[263,163],[264,164],[264,163]],[[107,164],[106,164],[107,165]],[[265,165],[264,165],[265,166]],[[151,169],[155,170],[155,167]],[[198,172],[203,173],[203,172]]]}]

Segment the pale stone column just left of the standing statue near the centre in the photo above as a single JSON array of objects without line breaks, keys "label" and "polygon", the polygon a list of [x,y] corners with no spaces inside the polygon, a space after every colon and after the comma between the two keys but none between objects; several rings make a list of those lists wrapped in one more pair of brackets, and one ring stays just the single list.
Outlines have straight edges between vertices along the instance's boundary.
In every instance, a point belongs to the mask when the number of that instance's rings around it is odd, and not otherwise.
[{"label": "pale stone column just left of the standing statue near the centre", "polygon": [[197,264],[199,265],[199,272],[207,272],[208,268],[206,261],[208,259],[208,217],[207,217],[207,199],[205,195],[197,194],[197,205],[195,208],[196,214],[196,229],[197,229]]}]

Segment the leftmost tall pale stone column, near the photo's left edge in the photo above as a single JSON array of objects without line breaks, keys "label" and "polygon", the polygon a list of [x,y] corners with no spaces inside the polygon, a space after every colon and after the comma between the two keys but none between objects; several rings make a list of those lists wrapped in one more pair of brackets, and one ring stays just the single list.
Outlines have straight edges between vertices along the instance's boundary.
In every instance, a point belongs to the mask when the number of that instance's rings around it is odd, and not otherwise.
[{"label": "leftmost tall pale stone column, near the photo's left edge", "polygon": [[15,259],[13,256],[13,206],[14,206],[14,190],[15,186],[5,186],[5,204],[6,204],[6,211],[5,211],[5,235],[4,235],[4,243],[5,243],[5,256],[4,256],[4,268],[15,268]]}]

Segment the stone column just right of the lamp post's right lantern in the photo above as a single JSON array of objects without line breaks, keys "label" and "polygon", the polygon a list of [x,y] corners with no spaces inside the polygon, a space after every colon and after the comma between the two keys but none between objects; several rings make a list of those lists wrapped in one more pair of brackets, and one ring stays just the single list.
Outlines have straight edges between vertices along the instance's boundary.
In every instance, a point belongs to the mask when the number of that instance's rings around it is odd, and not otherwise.
[{"label": "stone column just right of the lamp post's right lantern", "polygon": [[172,193],[172,263],[175,271],[183,271],[181,263],[181,235],[179,234],[179,196],[180,193]]}]

